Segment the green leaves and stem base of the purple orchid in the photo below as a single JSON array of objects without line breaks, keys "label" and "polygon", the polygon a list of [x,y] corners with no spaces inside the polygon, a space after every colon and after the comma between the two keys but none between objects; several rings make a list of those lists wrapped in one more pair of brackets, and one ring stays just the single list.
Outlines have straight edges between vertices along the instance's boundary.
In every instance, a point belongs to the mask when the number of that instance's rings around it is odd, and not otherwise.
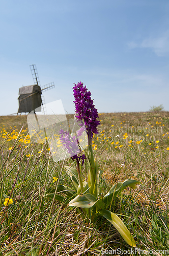
[{"label": "green leaves and stem base of the purple orchid", "polygon": [[[97,215],[101,215],[106,218],[119,231],[122,238],[130,246],[135,247],[135,241],[122,220],[111,211],[105,210],[105,208],[108,207],[108,205],[111,204],[112,201],[116,199],[117,195],[120,194],[125,188],[131,187],[134,189],[136,184],[140,182],[131,179],[127,179],[123,183],[118,182],[110,188],[108,193],[102,199],[98,197],[99,175],[102,173],[102,171],[98,171],[98,161],[97,159],[94,159],[92,145],[89,145],[88,147],[88,182],[82,182],[80,168],[78,169],[78,166],[79,162],[77,164],[77,169],[65,166],[66,172],[69,175],[72,186],[75,190],[71,190],[71,188],[68,188],[67,186],[59,185],[57,186],[56,191],[66,193],[68,197],[74,197],[69,202],[69,206],[84,209],[85,215],[90,219],[90,221],[94,220]],[[51,195],[51,191],[49,191],[47,197],[51,197]],[[55,197],[54,191],[53,197]],[[55,197],[55,199],[57,198]]]}]

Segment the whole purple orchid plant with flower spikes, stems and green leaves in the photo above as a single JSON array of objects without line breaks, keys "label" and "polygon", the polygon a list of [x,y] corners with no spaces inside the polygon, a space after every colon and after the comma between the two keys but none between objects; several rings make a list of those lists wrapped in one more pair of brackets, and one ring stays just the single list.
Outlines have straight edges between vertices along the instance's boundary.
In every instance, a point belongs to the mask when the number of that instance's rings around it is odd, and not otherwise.
[{"label": "whole purple orchid plant with flower spikes, stems and green leaves", "polygon": [[[76,167],[65,166],[66,172],[69,175],[73,188],[63,186],[62,190],[69,193],[73,198],[69,202],[69,206],[76,206],[83,208],[83,211],[88,215],[89,219],[94,220],[95,216],[100,215],[106,218],[115,228],[119,231],[122,238],[132,247],[135,247],[135,241],[124,225],[123,221],[113,212],[107,210],[108,205],[112,204],[117,195],[120,195],[126,187],[135,188],[136,180],[127,179],[123,183],[118,182],[107,192],[103,198],[99,198],[99,175],[103,172],[98,170],[97,159],[94,158],[92,150],[92,138],[94,134],[98,134],[97,126],[100,121],[97,120],[98,111],[95,108],[93,100],[91,99],[91,92],[88,91],[86,86],[83,86],[82,82],[78,82],[73,87],[73,95],[75,100],[75,115],[78,121],[85,124],[86,133],[88,136],[88,150],[87,155],[82,154],[79,149],[79,142],[77,137],[71,137],[68,132],[61,130],[61,140],[65,149],[70,154],[73,160],[76,160]],[[83,126],[81,125],[81,132]],[[80,134],[80,129],[78,131]],[[74,152],[74,153],[73,153]],[[88,180],[82,181],[80,166],[84,163],[85,159],[88,159]],[[87,165],[86,165],[87,166]],[[61,185],[60,185],[61,186]],[[60,190],[61,191],[61,190]]]}]

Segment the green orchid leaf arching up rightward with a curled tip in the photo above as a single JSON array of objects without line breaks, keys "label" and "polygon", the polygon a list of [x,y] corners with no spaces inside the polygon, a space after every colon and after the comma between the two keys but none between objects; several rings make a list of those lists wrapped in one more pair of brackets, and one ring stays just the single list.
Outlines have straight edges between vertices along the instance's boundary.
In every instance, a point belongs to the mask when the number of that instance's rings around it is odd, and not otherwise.
[{"label": "green orchid leaf arching up rightward with a curled tip", "polygon": [[123,183],[118,182],[117,184],[112,186],[108,193],[103,197],[103,202],[105,204],[110,204],[112,200],[114,200],[117,197],[117,195],[121,193],[126,187],[131,187],[134,189],[136,187],[136,184],[138,183],[140,182],[131,179],[127,179]]}]

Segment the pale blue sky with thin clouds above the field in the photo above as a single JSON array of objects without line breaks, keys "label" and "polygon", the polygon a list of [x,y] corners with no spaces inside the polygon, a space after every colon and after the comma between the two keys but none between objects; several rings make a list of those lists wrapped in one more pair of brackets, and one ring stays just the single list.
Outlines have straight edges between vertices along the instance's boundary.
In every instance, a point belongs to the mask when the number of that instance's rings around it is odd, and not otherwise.
[{"label": "pale blue sky with thin clouds above the field", "polygon": [[168,14],[168,0],[1,1],[0,115],[17,112],[32,64],[68,113],[80,80],[98,112],[169,111]]}]

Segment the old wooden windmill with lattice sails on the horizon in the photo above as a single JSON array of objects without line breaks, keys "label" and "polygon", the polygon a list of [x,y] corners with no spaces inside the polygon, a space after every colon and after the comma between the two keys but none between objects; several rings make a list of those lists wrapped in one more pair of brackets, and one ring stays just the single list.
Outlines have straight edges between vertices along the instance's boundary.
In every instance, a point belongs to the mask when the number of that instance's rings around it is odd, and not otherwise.
[{"label": "old wooden windmill with lattice sails on the horizon", "polygon": [[30,113],[33,110],[35,111],[37,108],[38,111],[41,111],[42,106],[42,112],[45,114],[45,102],[42,96],[42,91],[47,91],[54,88],[54,82],[48,83],[41,88],[36,65],[30,65],[30,68],[34,79],[34,85],[19,88],[18,113]]}]

